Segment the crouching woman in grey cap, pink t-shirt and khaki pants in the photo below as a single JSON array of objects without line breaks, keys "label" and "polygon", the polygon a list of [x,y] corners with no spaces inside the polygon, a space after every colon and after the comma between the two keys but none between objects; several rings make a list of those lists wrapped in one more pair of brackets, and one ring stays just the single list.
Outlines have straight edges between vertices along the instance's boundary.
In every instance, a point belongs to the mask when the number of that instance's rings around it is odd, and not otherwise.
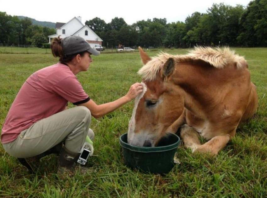
[{"label": "crouching woman in grey cap, pink t-shirt and khaki pants", "polygon": [[[44,152],[56,153],[59,149],[60,173],[73,174],[86,136],[94,137],[89,128],[91,115],[99,118],[116,110],[143,87],[135,83],[122,98],[97,105],[75,75],[87,71],[91,55],[99,52],[79,36],[54,38],[51,49],[53,56],[60,57],[59,62],[33,73],[22,85],[3,124],[1,142],[7,153],[20,158],[27,167],[38,163]],[[64,110],[68,102],[77,107]]]}]

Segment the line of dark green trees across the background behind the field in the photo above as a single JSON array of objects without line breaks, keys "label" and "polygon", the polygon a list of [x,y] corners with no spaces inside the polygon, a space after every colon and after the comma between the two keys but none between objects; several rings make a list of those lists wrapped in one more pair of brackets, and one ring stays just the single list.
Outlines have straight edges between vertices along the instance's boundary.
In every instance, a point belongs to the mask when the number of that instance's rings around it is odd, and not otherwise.
[{"label": "line of dark green trees across the background behind the field", "polygon": [[[213,4],[206,13],[194,12],[185,19],[167,23],[164,19],[140,20],[128,25],[115,17],[106,23],[98,17],[85,22],[108,48],[124,46],[190,47],[193,45],[267,46],[267,0],[253,0],[247,7]],[[8,17],[8,28],[3,16]],[[7,21],[6,21],[7,22]],[[38,29],[39,28],[39,29]],[[9,33],[8,33],[9,31]],[[51,32],[49,32],[51,31]],[[54,30],[53,30],[54,31]],[[52,29],[31,25],[29,20],[0,13],[0,43],[35,43],[34,36],[55,34]],[[10,34],[12,33],[12,34]],[[2,36],[4,35],[4,36]],[[48,39],[48,37],[46,38]],[[47,40],[48,42],[48,40]]]}]

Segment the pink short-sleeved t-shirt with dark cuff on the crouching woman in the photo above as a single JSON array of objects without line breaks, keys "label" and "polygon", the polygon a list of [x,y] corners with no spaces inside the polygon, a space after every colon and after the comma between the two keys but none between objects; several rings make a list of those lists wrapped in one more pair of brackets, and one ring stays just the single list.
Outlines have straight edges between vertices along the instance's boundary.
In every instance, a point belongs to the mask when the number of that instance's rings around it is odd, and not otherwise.
[{"label": "pink short-sleeved t-shirt with dark cuff on the crouching woman", "polygon": [[89,100],[67,65],[45,67],[20,88],[2,127],[1,142],[12,142],[35,122],[64,110],[68,101],[77,105]]}]

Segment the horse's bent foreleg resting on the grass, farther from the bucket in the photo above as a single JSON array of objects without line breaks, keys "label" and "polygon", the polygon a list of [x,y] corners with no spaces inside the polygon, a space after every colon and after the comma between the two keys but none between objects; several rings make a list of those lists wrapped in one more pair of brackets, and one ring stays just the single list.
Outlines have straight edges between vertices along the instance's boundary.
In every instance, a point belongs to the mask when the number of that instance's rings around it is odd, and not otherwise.
[{"label": "horse's bent foreleg resting on the grass, farther from the bucket", "polygon": [[226,146],[229,140],[230,140],[230,135],[228,134],[215,136],[205,144],[197,147],[194,152],[210,153],[211,155],[216,156],[219,153],[219,151]]}]

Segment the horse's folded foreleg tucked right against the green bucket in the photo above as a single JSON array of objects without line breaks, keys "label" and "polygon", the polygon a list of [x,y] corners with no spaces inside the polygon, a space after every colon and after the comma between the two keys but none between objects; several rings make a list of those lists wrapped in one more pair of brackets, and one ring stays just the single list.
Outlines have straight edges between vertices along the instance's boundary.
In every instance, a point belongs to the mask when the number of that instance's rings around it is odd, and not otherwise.
[{"label": "horse's folded foreleg tucked right against the green bucket", "polygon": [[191,126],[183,125],[181,127],[180,136],[183,140],[184,146],[186,148],[191,148],[192,152],[201,146],[199,134]]}]

